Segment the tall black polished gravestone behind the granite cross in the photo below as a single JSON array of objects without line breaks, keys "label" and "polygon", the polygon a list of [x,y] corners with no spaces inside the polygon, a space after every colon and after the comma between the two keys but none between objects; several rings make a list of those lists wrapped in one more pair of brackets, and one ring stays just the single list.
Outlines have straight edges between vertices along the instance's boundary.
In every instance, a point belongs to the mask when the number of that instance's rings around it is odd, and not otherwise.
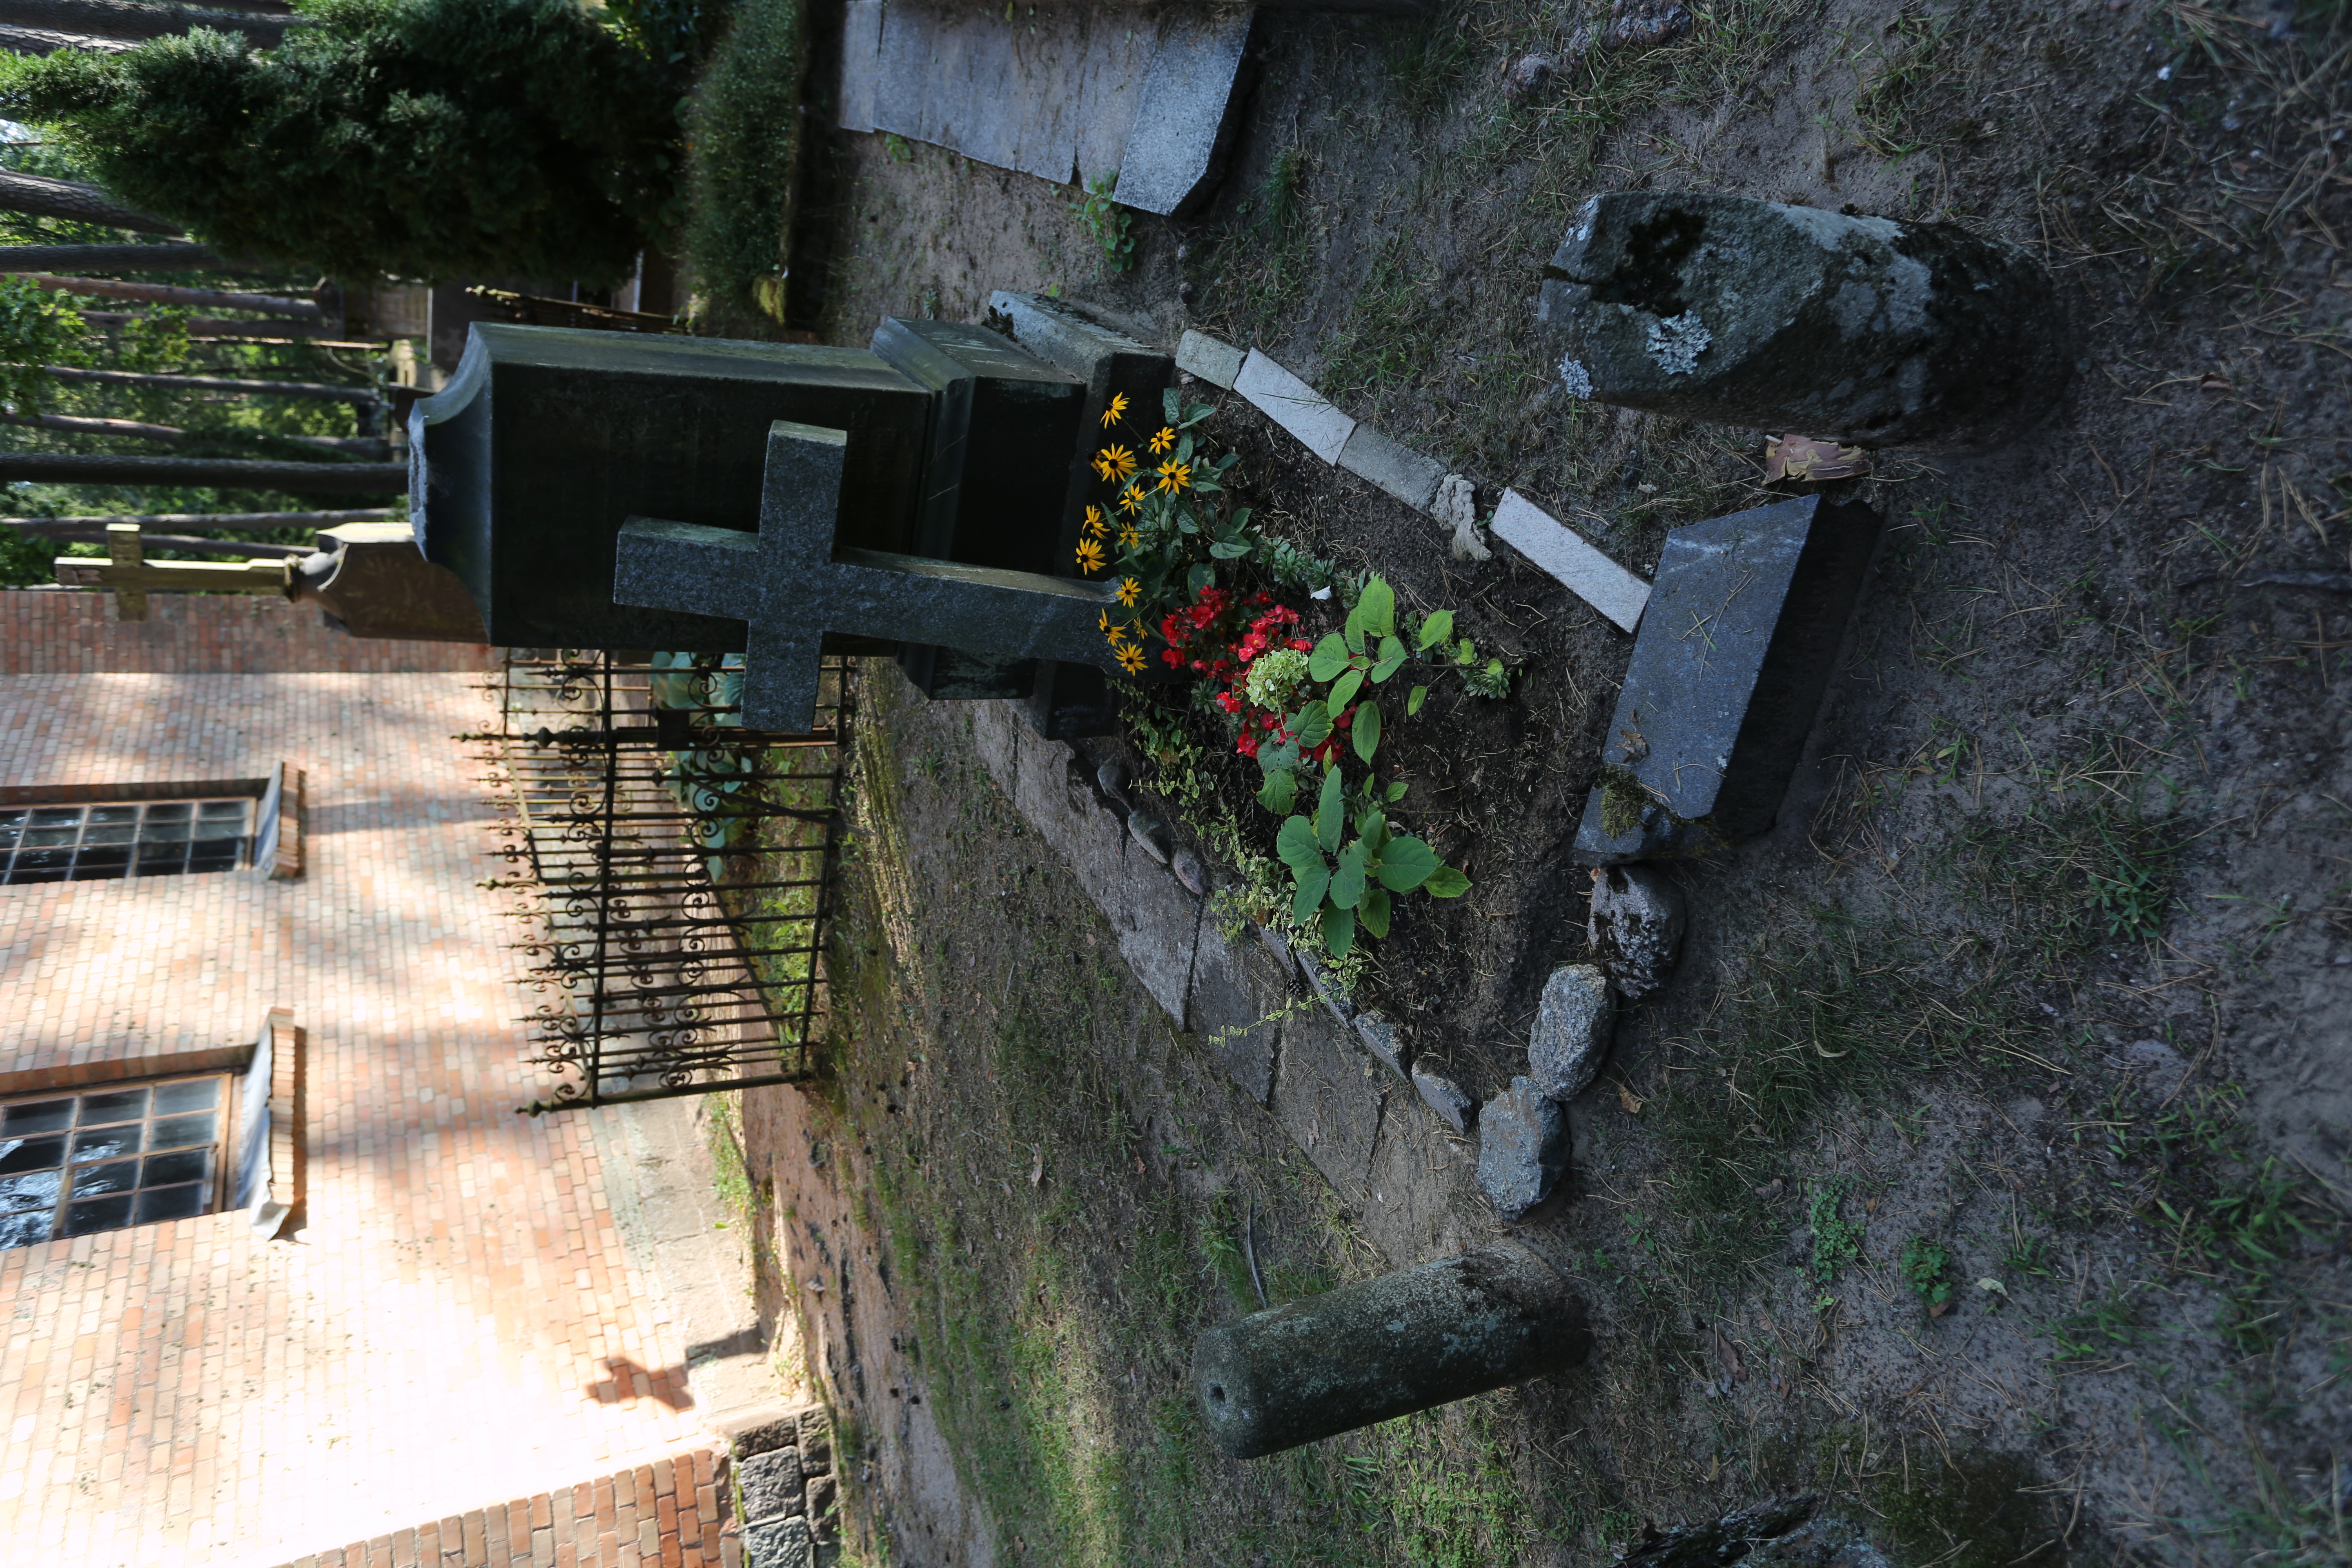
[{"label": "tall black polished gravestone behind the granite cross", "polygon": [[[1063,569],[1082,505],[1089,404],[1084,374],[955,322],[887,320],[866,353],[477,324],[456,378],[409,416],[412,512],[492,642],[741,651],[743,618],[614,597],[628,517],[753,529],[769,425],[786,421],[842,433],[835,548],[1044,576]],[[978,651],[920,621],[891,621],[903,637],[851,621],[880,625],[837,618],[821,646],[896,654],[931,696],[1025,696],[1037,679],[1023,639]],[[1084,651],[1054,646],[1082,668],[1108,661],[1098,630]],[[1094,724],[1098,693],[1096,679]]]}]

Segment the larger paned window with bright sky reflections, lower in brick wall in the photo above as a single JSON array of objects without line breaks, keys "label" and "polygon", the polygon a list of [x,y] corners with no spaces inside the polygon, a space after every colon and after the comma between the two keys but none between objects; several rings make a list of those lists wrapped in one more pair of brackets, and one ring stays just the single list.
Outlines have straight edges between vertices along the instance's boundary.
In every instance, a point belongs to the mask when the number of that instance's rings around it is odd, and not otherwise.
[{"label": "larger paned window with bright sky reflections, lower in brick wall", "polygon": [[226,1126],[219,1072],[0,1105],[0,1248],[212,1213]]}]

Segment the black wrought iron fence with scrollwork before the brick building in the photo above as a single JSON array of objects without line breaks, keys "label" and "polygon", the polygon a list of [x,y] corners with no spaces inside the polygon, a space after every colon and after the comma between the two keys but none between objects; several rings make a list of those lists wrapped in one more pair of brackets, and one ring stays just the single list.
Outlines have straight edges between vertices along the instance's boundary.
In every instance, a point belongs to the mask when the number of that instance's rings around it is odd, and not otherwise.
[{"label": "black wrought iron fence with scrollwork before the brick building", "polygon": [[736,724],[717,658],[515,649],[485,745],[522,893],[524,1023],[555,1077],[527,1114],[795,1084],[826,1006],[847,661],[818,726]]}]

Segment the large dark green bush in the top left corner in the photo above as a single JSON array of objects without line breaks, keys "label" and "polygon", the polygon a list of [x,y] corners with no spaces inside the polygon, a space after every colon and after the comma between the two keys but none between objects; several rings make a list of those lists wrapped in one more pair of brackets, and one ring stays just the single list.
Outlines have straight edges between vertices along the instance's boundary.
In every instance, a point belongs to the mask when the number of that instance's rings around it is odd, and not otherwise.
[{"label": "large dark green bush in the top left corner", "polygon": [[198,28],[0,56],[0,115],[223,252],[346,277],[609,282],[670,226],[677,82],[569,0],[318,0],[280,49]]}]

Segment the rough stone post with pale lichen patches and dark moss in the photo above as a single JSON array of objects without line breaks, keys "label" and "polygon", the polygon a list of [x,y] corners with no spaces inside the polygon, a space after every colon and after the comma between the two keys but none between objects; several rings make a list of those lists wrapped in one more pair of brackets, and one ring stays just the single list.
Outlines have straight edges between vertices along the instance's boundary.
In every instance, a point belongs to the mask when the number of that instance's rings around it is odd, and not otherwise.
[{"label": "rough stone post with pale lichen patches and dark moss", "polygon": [[1628,190],[1585,202],[1543,275],[1569,393],[1771,435],[1997,447],[2074,360],[2042,263],[1950,223]]}]

